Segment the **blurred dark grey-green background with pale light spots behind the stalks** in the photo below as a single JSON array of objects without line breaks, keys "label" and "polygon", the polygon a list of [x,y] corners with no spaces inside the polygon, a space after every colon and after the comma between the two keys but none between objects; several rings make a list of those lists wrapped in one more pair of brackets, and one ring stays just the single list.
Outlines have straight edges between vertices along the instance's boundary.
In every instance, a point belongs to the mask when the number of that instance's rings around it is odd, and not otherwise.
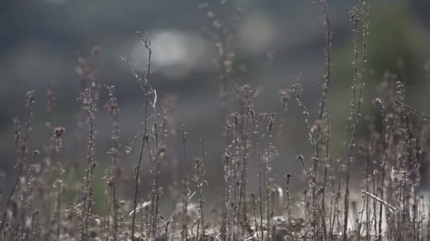
[{"label": "blurred dark grey-green background with pale light spots behind the stalks", "polygon": [[[277,91],[291,85],[290,76],[301,75],[303,99],[312,118],[316,117],[321,99],[320,82],[325,73],[325,27],[320,8],[310,0],[231,0],[223,7],[219,1],[210,0],[209,4],[216,16],[240,9],[240,19],[231,27],[231,51],[236,54],[234,66],[240,69],[234,79],[240,85],[249,84],[252,89],[258,89],[257,112],[277,113],[277,125],[284,125],[283,130],[276,130],[284,141],[278,142],[278,155],[273,160],[275,181],[284,182],[287,172],[296,173],[299,180],[302,169],[294,156],[306,155],[310,151],[306,125],[294,100],[288,111],[284,111]],[[359,5],[359,1],[329,0],[328,5],[333,32],[333,75],[328,101],[334,126],[332,142],[336,147],[333,148],[339,148],[351,97],[349,11],[352,6]],[[371,106],[378,82],[389,71],[405,81],[408,103],[430,113],[430,105],[423,99],[430,90],[429,75],[426,75],[430,65],[427,70],[425,68],[430,59],[429,11],[427,0],[372,2],[368,41],[371,75],[366,80],[364,106]],[[182,125],[188,134],[188,156],[200,155],[199,140],[205,135],[207,179],[214,190],[208,195],[215,197],[216,192],[221,192],[224,147],[221,145],[223,118],[219,70],[214,65],[216,42],[207,32],[211,21],[199,8],[198,1],[2,0],[0,26],[0,170],[6,174],[6,180],[11,180],[16,172],[11,120],[15,116],[23,120],[25,92],[32,89],[35,90],[36,104],[30,151],[42,150],[49,140],[47,133],[50,130],[45,127],[46,103],[47,90],[52,88],[57,94],[52,125],[66,128],[64,152],[58,158],[85,163],[86,145],[72,148],[76,140],[86,141],[85,127],[79,130],[76,125],[76,113],[81,111],[79,101],[76,101],[80,90],[76,73],[79,57],[85,58],[91,68],[98,71],[98,83],[116,86],[121,109],[120,159],[124,176],[131,176],[137,157],[125,154],[124,147],[141,130],[143,97],[120,56],[128,56],[136,70],[144,72],[147,52],[135,34],[141,31],[151,37],[151,82],[157,90],[158,103],[161,105],[166,97],[176,98],[175,131],[168,155],[180,161]],[[100,176],[110,163],[107,152],[112,143],[111,119],[108,111],[102,108],[106,96],[103,89],[95,125]],[[147,171],[148,164],[144,163]],[[191,172],[191,166],[182,166],[179,162],[179,173]],[[168,165],[163,170],[163,187],[168,192],[172,177]],[[256,176],[255,173],[256,162],[252,158],[250,176]],[[251,189],[257,183],[252,179]],[[294,185],[301,188],[299,182]],[[104,187],[100,185],[100,193],[103,191]]]}]

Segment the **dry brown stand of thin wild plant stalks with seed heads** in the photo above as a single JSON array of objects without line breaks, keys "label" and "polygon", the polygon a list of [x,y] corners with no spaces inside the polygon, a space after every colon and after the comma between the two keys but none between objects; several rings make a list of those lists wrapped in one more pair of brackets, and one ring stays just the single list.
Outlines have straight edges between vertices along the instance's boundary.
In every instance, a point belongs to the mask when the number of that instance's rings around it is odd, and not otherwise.
[{"label": "dry brown stand of thin wild plant stalks with seed heads", "polygon": [[[404,84],[396,75],[383,77],[373,99],[373,113],[362,118],[362,92],[366,82],[370,6],[360,1],[351,10],[351,101],[345,120],[342,156],[331,155],[330,148],[330,82],[332,32],[327,3],[315,4],[322,10],[325,26],[325,75],[322,78],[322,100],[317,118],[308,112],[302,98],[300,78],[291,78],[291,85],[279,90],[285,109],[291,99],[296,101],[308,128],[310,155],[297,156],[303,166],[306,184],[303,193],[291,192],[294,175],[285,171],[285,180],[274,183],[271,162],[277,154],[274,136],[281,132],[277,116],[288,113],[259,113],[254,107],[254,92],[248,85],[234,82],[234,54],[230,49],[231,27],[239,15],[217,18],[209,2],[199,3],[207,14],[211,35],[216,40],[216,67],[221,83],[223,130],[221,139],[225,152],[220,154],[223,165],[222,209],[211,217],[205,209],[204,195],[210,188],[205,180],[206,139],[198,147],[187,145],[187,130],[182,125],[182,156],[184,165],[194,168],[194,175],[185,175],[172,183],[170,196],[163,194],[160,184],[161,164],[167,161],[167,140],[172,128],[174,99],[157,100],[151,83],[151,39],[137,32],[141,44],[149,51],[146,73],[137,73],[127,57],[122,57],[137,85],[141,88],[142,128],[132,138],[120,134],[120,103],[115,87],[101,86],[97,71],[86,58],[79,58],[76,68],[81,80],[77,127],[63,128],[52,123],[56,97],[54,89],[47,94],[47,129],[49,140],[45,149],[31,149],[28,142],[33,123],[35,95],[28,92],[23,120],[13,118],[16,143],[16,179],[8,180],[7,193],[1,193],[1,240],[430,240],[430,214],[420,193],[420,175],[426,163],[429,144],[426,133],[429,116],[407,106]],[[221,3],[222,6],[222,3]],[[370,31],[371,32],[371,31]],[[94,49],[93,54],[98,54]],[[107,103],[100,95],[108,94]],[[368,100],[370,101],[370,100]],[[160,104],[161,103],[161,104]],[[94,203],[95,156],[97,137],[95,118],[100,106],[112,116],[112,156],[105,170],[105,200]],[[73,128],[86,128],[86,165],[80,171],[74,161],[60,161],[64,152],[63,135]],[[359,127],[365,126],[366,128]],[[358,131],[362,143],[357,141]],[[33,139],[36,139],[33,137]],[[40,138],[37,138],[40,139]],[[201,155],[190,157],[188,149],[200,149]],[[119,156],[136,152],[132,185],[124,185]],[[63,158],[64,159],[64,158]],[[191,161],[190,161],[191,160]],[[255,162],[250,162],[255,160]],[[351,199],[351,168],[361,163],[362,197]],[[148,163],[150,170],[142,169]],[[248,166],[257,163],[258,175],[250,176]],[[79,165],[83,165],[80,163]],[[356,167],[357,165],[354,165]],[[123,167],[127,168],[127,167]],[[357,173],[357,171],[354,171]],[[127,172],[126,172],[127,173]],[[151,183],[141,183],[142,175]],[[79,176],[79,178],[71,178]],[[6,178],[13,178],[8,175]],[[98,177],[100,178],[100,177]],[[248,181],[257,178],[257,193],[250,193]],[[100,187],[99,187],[100,188]],[[132,197],[124,189],[134,190]],[[147,196],[142,190],[149,189]],[[161,216],[161,199],[171,199],[175,210]],[[192,200],[197,200],[194,202]],[[70,203],[73,204],[70,204]],[[102,202],[99,200],[98,202]],[[105,206],[105,214],[96,215],[95,205]]]}]

